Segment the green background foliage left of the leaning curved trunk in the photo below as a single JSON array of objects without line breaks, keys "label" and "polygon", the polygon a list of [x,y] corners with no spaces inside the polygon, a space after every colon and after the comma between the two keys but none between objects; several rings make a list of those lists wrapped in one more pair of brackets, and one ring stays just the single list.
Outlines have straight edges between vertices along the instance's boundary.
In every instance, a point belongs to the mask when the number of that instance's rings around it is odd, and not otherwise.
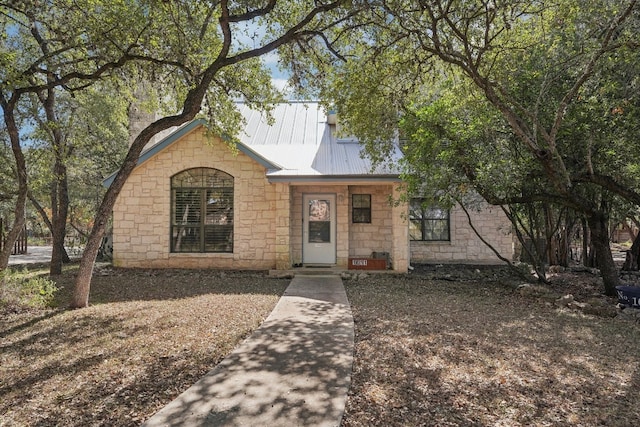
[{"label": "green background foliage left of the leaning curved trunk", "polygon": [[[115,82],[104,81],[70,96],[57,96],[57,123],[64,135],[69,186],[69,221],[88,234],[92,218],[104,194],[102,180],[117,169],[127,148],[128,99]],[[42,112],[37,106],[32,117]],[[40,122],[40,121],[39,121]],[[54,144],[46,125],[33,128],[25,150],[31,197],[46,206],[54,179]],[[32,211],[33,209],[29,209]],[[50,215],[50,209],[46,209]],[[35,217],[29,214],[28,217]]]}]

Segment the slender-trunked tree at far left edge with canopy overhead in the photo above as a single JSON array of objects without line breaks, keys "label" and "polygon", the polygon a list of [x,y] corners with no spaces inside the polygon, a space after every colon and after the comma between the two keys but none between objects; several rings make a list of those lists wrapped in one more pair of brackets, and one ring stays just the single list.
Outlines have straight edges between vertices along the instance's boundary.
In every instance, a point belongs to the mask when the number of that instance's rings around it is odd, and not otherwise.
[{"label": "slender-trunked tree at far left edge with canopy overhead", "polygon": [[0,2],[0,106],[17,183],[0,269],[8,265],[25,221],[29,188],[18,113],[26,95],[50,101],[54,88],[81,90],[144,55],[141,46],[149,45],[146,18],[153,8],[146,2],[62,0],[42,6],[36,0]]}]

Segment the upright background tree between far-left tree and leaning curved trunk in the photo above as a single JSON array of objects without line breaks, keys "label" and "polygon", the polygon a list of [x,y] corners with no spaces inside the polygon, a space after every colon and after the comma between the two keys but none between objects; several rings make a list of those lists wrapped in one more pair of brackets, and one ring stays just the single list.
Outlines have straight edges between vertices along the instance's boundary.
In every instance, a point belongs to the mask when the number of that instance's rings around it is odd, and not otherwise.
[{"label": "upright background tree between far-left tree and leaning curved trunk", "polygon": [[[73,96],[51,88],[49,95],[29,98],[33,105],[27,116],[37,126],[28,135],[28,197],[53,236],[51,275],[60,274],[62,262],[68,262],[68,213],[71,226],[88,234],[78,214],[86,218],[95,212],[104,171],[117,169],[127,148],[126,87],[116,90],[113,83],[98,82]],[[42,202],[47,198],[48,210]]]}]

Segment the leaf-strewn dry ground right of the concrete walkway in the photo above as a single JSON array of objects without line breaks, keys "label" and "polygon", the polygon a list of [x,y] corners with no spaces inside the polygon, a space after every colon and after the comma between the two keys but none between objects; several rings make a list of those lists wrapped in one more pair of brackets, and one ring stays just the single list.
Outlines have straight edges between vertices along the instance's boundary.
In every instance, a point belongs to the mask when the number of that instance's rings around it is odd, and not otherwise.
[{"label": "leaf-strewn dry ground right of the concrete walkway", "polygon": [[[345,426],[640,425],[638,325],[522,296],[501,275],[427,276],[348,284]],[[584,300],[598,285],[558,274],[551,289]]]}]

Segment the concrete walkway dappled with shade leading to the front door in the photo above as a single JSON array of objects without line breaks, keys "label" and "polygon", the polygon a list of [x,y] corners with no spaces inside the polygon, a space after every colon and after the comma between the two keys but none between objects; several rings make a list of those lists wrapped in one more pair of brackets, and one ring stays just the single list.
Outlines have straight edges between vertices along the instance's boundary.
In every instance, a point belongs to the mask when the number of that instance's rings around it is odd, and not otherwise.
[{"label": "concrete walkway dappled with shade leading to the front door", "polygon": [[338,426],[353,340],[340,277],[296,276],[249,339],[144,425]]}]

